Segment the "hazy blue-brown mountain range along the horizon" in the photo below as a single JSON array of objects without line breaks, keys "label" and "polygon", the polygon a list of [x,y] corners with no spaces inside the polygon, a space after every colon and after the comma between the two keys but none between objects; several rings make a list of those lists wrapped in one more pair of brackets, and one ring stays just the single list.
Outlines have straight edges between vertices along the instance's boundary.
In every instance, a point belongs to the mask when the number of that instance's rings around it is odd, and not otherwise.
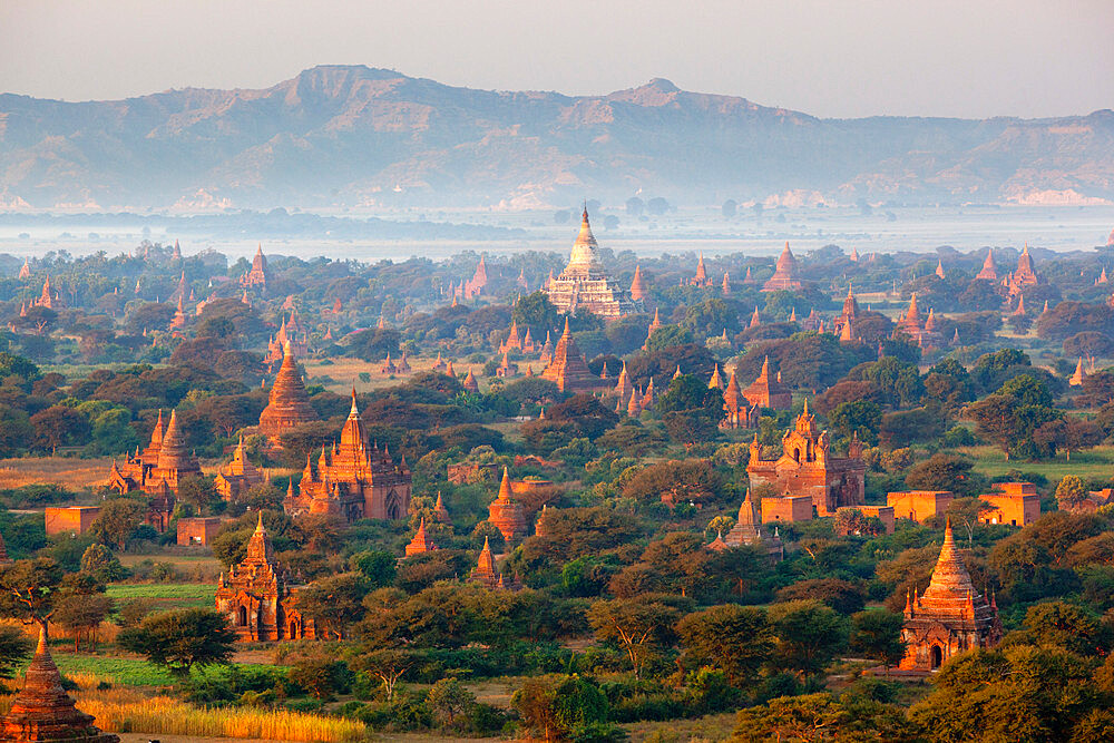
[{"label": "hazy blue-brown mountain range along the horizon", "polygon": [[819,119],[655,79],[502,92],[368,67],[264,90],[0,95],[0,207],[1114,202],[1114,111]]}]

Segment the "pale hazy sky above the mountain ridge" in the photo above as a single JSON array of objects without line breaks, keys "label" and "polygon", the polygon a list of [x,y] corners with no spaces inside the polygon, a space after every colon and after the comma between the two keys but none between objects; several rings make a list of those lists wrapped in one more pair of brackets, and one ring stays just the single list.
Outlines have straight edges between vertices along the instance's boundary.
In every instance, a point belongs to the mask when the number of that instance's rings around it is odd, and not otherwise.
[{"label": "pale hazy sky above the mountain ridge", "polygon": [[596,95],[654,77],[822,117],[1114,108],[1114,0],[0,0],[0,92],[264,88],[315,65]]}]

